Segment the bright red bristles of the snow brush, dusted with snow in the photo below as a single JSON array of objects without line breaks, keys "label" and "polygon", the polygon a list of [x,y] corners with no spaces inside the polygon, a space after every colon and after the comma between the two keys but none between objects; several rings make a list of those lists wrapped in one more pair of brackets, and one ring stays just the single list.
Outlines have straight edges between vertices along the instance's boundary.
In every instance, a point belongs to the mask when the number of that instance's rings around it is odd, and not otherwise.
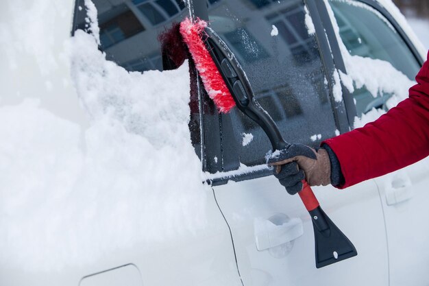
[{"label": "bright red bristles of the snow brush, dusted with snow", "polygon": [[226,113],[235,106],[235,102],[201,38],[206,27],[206,21],[197,19],[192,23],[186,18],[180,23],[180,34],[188,46],[208,96],[220,112]]}]

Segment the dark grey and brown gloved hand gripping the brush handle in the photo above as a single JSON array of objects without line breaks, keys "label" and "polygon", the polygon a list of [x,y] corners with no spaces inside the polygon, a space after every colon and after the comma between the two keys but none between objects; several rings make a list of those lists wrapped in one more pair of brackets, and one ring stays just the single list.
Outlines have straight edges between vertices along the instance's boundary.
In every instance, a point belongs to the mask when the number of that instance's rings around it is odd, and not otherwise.
[{"label": "dark grey and brown gloved hand gripping the brush handle", "polygon": [[304,178],[310,186],[326,186],[331,181],[330,158],[323,148],[316,151],[306,145],[293,144],[274,152],[267,164],[274,166],[274,176],[291,195],[302,190]]}]

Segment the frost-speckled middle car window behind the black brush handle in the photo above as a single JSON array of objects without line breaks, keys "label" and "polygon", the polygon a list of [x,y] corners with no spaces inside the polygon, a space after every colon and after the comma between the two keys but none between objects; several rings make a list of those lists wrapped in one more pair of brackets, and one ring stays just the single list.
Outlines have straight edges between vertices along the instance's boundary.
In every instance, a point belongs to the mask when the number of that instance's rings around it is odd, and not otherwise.
[{"label": "frost-speckled middle car window behind the black brush handle", "polygon": [[[328,82],[302,0],[217,1],[208,14],[286,141],[315,146],[335,135]],[[264,164],[271,144],[262,129],[237,108],[223,117],[222,129],[229,123],[223,160],[236,156],[247,166]]]}]

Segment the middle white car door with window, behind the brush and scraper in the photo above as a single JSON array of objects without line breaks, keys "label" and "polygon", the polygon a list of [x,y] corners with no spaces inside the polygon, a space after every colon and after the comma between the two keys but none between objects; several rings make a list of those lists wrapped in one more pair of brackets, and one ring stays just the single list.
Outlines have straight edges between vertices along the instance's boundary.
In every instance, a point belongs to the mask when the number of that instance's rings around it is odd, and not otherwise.
[{"label": "middle white car door with window, behind the brush and scraper", "polygon": [[[349,130],[345,104],[334,97],[341,84],[316,1],[210,1],[208,19],[287,141],[317,146]],[[204,93],[201,99],[210,106]],[[373,180],[347,191],[314,188],[358,250],[357,257],[316,269],[310,217],[299,197],[270,176],[265,133],[238,110],[219,115],[207,109],[204,122],[211,125],[204,137],[218,143],[205,143],[206,176],[230,227],[243,285],[388,284],[387,240]]]}]

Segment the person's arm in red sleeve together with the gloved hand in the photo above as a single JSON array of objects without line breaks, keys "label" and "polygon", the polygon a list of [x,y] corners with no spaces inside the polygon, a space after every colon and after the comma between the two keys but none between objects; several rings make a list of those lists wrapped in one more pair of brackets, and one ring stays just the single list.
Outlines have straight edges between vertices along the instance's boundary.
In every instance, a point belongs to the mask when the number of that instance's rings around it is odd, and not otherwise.
[{"label": "person's arm in red sleeve together with the gloved hand", "polygon": [[[289,193],[296,193],[299,186],[302,187],[297,181],[296,167],[290,167],[291,162],[304,171],[310,185],[329,182],[344,189],[426,158],[429,155],[428,61],[416,80],[408,99],[363,128],[323,141],[319,150],[293,145],[294,152],[282,150],[270,158],[269,165],[284,166],[274,171],[280,183],[286,189],[293,186],[293,191],[288,189]],[[314,155],[308,156],[308,149]],[[289,164],[289,168],[285,164]]]}]

